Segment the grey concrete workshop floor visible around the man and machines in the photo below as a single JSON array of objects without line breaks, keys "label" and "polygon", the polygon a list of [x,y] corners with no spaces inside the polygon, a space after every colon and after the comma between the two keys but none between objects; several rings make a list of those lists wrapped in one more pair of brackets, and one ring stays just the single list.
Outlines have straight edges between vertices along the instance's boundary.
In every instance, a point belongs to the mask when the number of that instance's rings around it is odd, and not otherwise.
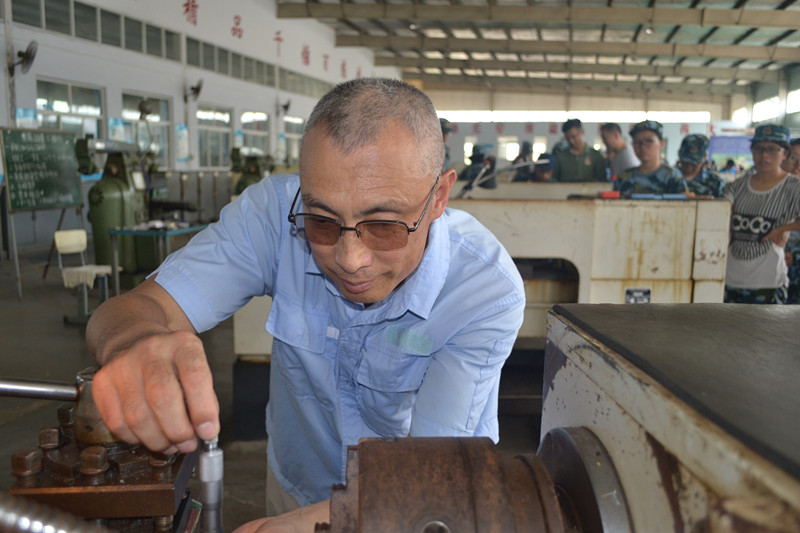
[{"label": "grey concrete workshop floor visible around the man and machines", "polygon": [[[48,251],[38,247],[20,251],[22,300],[17,298],[13,262],[5,253],[0,258],[0,376],[74,382],[77,371],[94,363],[86,350],[83,328],[63,322],[65,314],[75,313],[77,301],[75,293],[61,284],[55,259],[47,278],[42,279]],[[96,298],[96,290],[90,293],[90,307],[96,303],[92,298]],[[266,440],[234,440],[232,321],[201,337],[221,408],[220,442],[225,452],[223,519],[224,530],[232,531],[264,515]],[[508,373],[519,381],[520,376],[530,374],[529,367],[523,363],[514,366],[513,372],[504,371],[504,380]],[[535,410],[537,400],[531,402],[517,393],[501,400],[499,448],[503,455],[536,450],[538,417],[531,413],[531,404]],[[0,468],[0,490],[14,482],[10,471],[12,453],[36,446],[39,428],[57,423],[58,405],[60,402],[0,397],[0,465],[5,465]]]}]

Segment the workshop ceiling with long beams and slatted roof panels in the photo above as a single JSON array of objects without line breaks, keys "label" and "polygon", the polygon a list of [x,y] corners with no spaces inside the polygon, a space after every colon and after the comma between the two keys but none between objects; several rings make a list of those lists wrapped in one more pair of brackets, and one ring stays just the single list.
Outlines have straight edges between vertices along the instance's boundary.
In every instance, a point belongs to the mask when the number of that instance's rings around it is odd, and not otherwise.
[{"label": "workshop ceiling with long beams and slatted roof panels", "polygon": [[437,89],[745,93],[800,63],[796,0],[283,0]]}]

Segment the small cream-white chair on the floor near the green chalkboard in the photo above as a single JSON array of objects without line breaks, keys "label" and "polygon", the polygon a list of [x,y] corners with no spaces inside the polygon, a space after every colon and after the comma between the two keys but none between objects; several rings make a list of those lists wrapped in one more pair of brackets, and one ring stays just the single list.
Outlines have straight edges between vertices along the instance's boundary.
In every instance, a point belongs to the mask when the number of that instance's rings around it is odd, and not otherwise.
[{"label": "small cream-white chair on the floor near the green chalkboard", "polygon": [[[64,280],[64,287],[73,289],[77,287],[78,294],[78,314],[74,317],[64,316],[64,322],[73,324],[86,324],[89,320],[89,288],[94,287],[94,280],[99,280],[98,292],[99,303],[103,303],[108,298],[108,277],[111,275],[109,265],[87,265],[86,264],[86,231],[82,229],[71,229],[56,231],[53,234],[56,251],[58,252],[58,268],[61,270],[61,278]],[[64,266],[62,256],[78,254],[80,255],[79,266]]]}]

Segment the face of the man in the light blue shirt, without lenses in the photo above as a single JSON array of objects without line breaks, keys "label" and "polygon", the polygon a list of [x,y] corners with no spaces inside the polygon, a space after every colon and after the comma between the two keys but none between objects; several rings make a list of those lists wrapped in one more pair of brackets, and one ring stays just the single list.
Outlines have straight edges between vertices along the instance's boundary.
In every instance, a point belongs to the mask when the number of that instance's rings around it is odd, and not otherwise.
[{"label": "face of the man in the light blue shirt, without lenses", "polygon": [[[335,218],[343,226],[380,219],[413,227],[436,180],[422,170],[422,152],[397,125],[388,125],[374,143],[349,155],[330,143],[323,128],[315,128],[300,154],[303,206],[298,210]],[[375,251],[356,232],[345,231],[335,244],[309,243],[317,265],[346,298],[367,304],[384,299],[422,260],[428,228],[444,212],[455,178],[452,169],[442,174],[419,229],[404,248]]]}]

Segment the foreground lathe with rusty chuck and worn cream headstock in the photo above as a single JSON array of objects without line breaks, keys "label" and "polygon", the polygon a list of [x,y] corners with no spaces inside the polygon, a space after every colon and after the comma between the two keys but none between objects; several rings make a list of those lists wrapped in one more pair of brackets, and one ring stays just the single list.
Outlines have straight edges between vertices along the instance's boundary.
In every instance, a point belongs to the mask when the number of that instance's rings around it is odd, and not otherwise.
[{"label": "foreground lathe with rusty chuck and worn cream headstock", "polygon": [[537,454],[367,439],[336,533],[800,532],[794,306],[556,306]]}]

